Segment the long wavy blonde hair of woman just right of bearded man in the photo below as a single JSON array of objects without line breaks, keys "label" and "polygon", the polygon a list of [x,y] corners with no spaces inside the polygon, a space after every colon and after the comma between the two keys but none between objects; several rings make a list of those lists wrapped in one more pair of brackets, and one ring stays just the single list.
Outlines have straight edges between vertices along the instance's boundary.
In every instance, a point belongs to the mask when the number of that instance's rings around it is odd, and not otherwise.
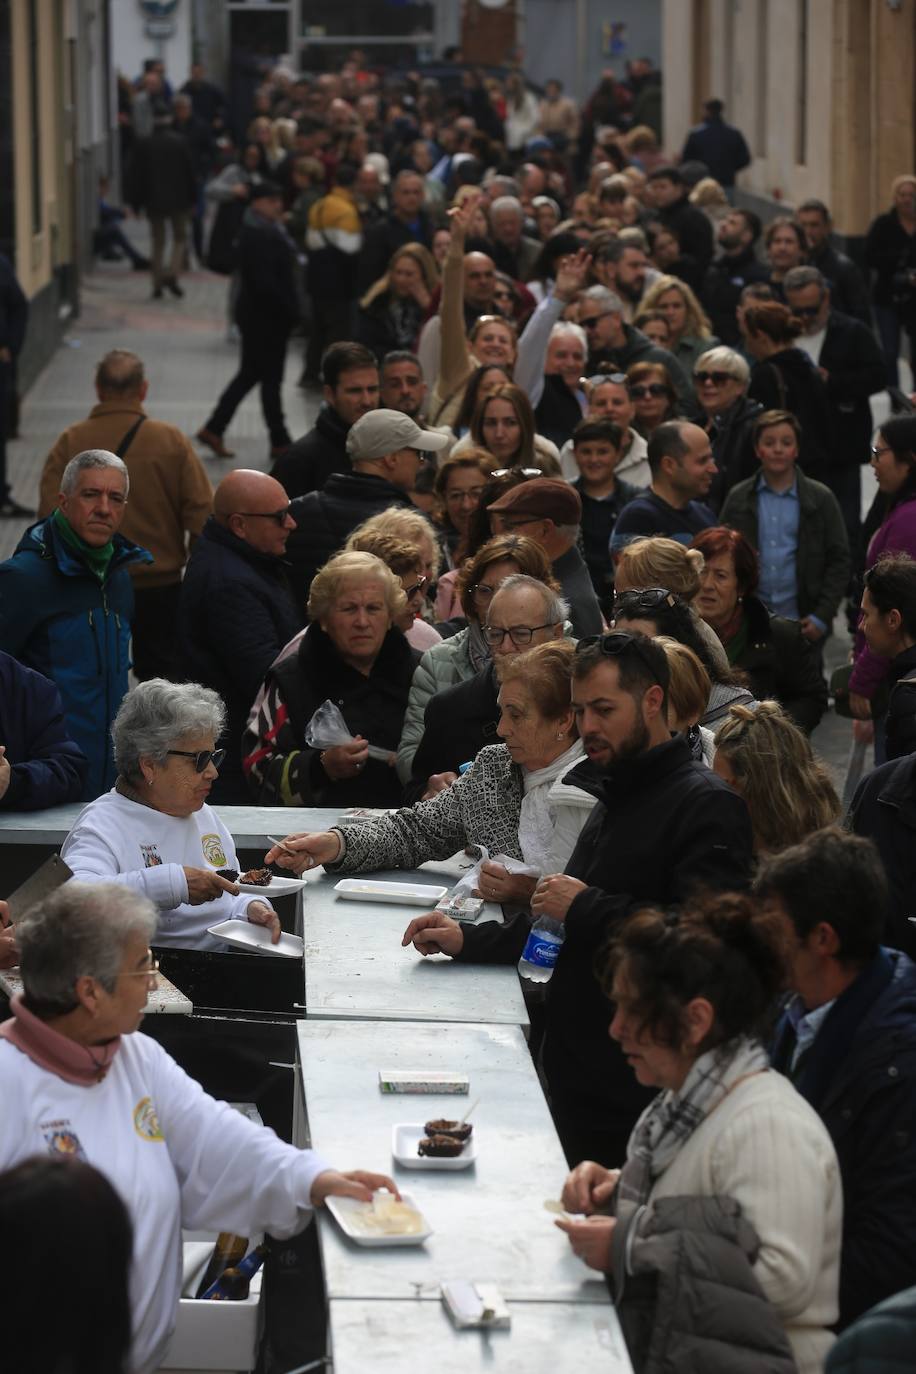
[{"label": "long wavy blonde hair of woman just right of bearded man", "polygon": [[828,768],[776,701],[729,709],[715,731],[713,768],[744,798],[758,855],[779,853],[840,819]]}]

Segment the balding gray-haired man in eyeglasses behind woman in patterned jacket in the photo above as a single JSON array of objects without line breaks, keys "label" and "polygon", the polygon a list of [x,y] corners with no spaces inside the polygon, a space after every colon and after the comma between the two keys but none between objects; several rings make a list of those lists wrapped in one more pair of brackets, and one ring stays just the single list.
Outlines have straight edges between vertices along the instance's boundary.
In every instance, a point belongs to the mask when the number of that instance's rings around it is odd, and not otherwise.
[{"label": "balding gray-haired man in eyeglasses behind woman in patterned jacket", "polygon": [[413,754],[405,800],[433,797],[457,778],[485,745],[499,743],[497,665],[549,639],[563,639],[569,606],[555,591],[523,573],[512,573],[493,594],[483,638],[492,661],[474,677],[437,692],[426,708],[423,736]]}]

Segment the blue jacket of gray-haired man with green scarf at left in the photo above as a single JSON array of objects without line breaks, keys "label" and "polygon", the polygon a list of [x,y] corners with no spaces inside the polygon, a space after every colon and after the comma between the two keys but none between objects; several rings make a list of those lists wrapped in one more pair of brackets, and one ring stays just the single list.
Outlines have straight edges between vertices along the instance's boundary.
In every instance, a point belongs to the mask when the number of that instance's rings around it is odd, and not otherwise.
[{"label": "blue jacket of gray-haired man with green scarf at left", "polygon": [[110,727],[128,691],[133,587],[130,563],[152,555],[122,534],[104,584],[63,543],[54,521],[27,529],[0,563],[0,649],[49,677],[67,731],[89,760],[82,800],[115,778]]}]

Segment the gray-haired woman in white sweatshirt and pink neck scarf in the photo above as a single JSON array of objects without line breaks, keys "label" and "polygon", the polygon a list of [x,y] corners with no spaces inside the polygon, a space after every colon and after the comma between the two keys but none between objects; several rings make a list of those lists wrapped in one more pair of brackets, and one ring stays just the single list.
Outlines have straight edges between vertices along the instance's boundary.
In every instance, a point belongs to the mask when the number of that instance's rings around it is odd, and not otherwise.
[{"label": "gray-haired woman in white sweatshirt and pink neck scarf", "polygon": [[339,1173],[277,1140],[136,1033],[157,971],[146,897],[67,882],[16,930],[23,991],[0,1026],[0,1171],[77,1156],[121,1195],[133,1227],[132,1374],[158,1369],[169,1344],[181,1227],[284,1239],[327,1197],[397,1195],[385,1175]]}]

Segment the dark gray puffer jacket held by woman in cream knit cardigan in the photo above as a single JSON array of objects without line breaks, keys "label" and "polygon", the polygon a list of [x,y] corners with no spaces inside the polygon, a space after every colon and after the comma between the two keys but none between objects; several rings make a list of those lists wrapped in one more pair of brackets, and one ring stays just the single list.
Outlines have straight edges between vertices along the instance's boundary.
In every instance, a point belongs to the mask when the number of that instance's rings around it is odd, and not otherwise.
[{"label": "dark gray puffer jacket held by woman in cream knit cardigan", "polygon": [[733,1198],[658,1198],[622,1223],[608,1279],[636,1374],[792,1374],[753,1270],[759,1238]]}]

